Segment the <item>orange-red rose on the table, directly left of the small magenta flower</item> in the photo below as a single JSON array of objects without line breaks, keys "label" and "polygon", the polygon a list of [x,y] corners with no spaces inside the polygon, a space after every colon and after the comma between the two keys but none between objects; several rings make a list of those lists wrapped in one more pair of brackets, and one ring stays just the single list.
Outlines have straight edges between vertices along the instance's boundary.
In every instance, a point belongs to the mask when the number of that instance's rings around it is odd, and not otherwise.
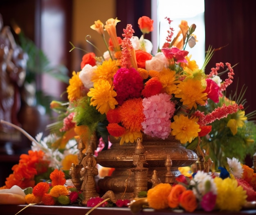
[{"label": "orange-red rose on the table, directly left of the small magenta flower", "polygon": [[180,206],[184,208],[185,211],[195,211],[195,209],[198,207],[198,202],[192,190],[185,190],[180,195]]}]

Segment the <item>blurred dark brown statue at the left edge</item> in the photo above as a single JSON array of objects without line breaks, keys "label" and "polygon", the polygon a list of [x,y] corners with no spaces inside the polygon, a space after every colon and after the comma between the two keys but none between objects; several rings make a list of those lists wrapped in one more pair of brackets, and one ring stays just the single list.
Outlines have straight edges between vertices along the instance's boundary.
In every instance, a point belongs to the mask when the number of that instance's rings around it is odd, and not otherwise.
[{"label": "blurred dark brown statue at the left edge", "polygon": [[[10,27],[3,25],[0,14],[0,119],[20,125],[20,87],[27,67],[27,54],[16,45]],[[12,128],[0,124],[0,142],[18,140]],[[14,134],[14,135],[13,135]]]}]

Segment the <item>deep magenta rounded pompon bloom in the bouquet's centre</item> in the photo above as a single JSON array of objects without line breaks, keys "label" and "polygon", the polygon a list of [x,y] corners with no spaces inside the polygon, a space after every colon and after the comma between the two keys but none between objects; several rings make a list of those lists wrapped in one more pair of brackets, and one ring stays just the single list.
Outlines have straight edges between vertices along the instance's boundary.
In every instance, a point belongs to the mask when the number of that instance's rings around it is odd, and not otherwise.
[{"label": "deep magenta rounded pompon bloom in the bouquet's centre", "polygon": [[115,99],[121,105],[125,100],[139,98],[144,87],[143,79],[134,68],[121,68],[114,75],[113,85],[117,96]]}]

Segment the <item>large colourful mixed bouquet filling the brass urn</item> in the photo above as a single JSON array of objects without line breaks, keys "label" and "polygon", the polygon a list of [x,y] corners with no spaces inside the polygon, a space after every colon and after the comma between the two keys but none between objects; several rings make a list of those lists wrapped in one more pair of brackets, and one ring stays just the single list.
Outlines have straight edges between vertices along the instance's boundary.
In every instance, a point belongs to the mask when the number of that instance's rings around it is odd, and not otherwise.
[{"label": "large colourful mixed bouquet filling the brass urn", "polygon": [[[210,101],[219,104],[232,83],[233,68],[229,63],[217,63],[206,74],[204,69],[215,49],[209,48],[204,65],[199,68],[185,50],[186,45],[195,45],[195,24],[189,27],[183,20],[174,37],[172,21],[166,21],[170,25],[166,43],[154,55],[152,43],[145,39],[153,31],[150,18],[139,18],[140,38],[133,36],[132,25],[128,24],[123,39],[116,33],[120,22],[117,18],[107,20],[106,25],[95,21],[91,28],[106,45],[105,31],[110,36],[107,51],[100,57],[92,52],[85,54],[81,71],[72,73],[67,87],[68,120],[63,132],[80,127],[82,139],[96,133],[106,142],[112,135],[120,138],[121,145],[133,143],[143,134],[160,139],[172,135],[186,144],[211,132],[214,121],[243,110],[242,104],[222,103],[211,112],[200,111]],[[225,81],[218,76],[220,69],[227,72]],[[56,102],[52,105],[61,106]]]}]

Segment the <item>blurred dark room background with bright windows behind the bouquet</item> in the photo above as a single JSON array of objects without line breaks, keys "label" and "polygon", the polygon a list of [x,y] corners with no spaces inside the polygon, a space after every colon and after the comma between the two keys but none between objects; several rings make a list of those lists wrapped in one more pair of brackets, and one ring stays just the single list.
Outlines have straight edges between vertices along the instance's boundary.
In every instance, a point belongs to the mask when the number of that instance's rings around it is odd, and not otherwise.
[{"label": "blurred dark room background with bright windows behind the bouquet", "polygon": [[[166,2],[168,5],[165,5]],[[176,4],[177,2],[179,4]],[[232,94],[236,89],[240,92],[247,87],[244,96],[247,99],[245,111],[251,112],[256,109],[255,8],[255,0],[195,0],[192,5],[186,0],[183,3],[175,0],[1,0],[1,42],[4,44],[5,39],[9,39],[10,32],[16,45],[28,54],[21,57],[22,62],[29,63],[25,68],[25,80],[21,75],[18,77],[22,79],[22,84],[15,80],[13,89],[16,99],[13,101],[18,103],[15,103],[16,109],[12,110],[11,114],[15,114],[17,124],[31,136],[35,137],[38,132],[47,134],[45,126],[54,120],[54,114],[49,110],[49,102],[53,99],[65,101],[66,94],[63,92],[66,90],[68,78],[72,71],[81,70],[81,58],[85,52],[80,49],[69,52],[72,48],[70,42],[76,47],[100,55],[101,53],[85,40],[85,37],[90,35],[90,42],[102,53],[106,51],[99,34],[90,29],[94,21],[101,20],[105,23],[108,18],[117,17],[121,20],[117,24],[118,36],[121,36],[128,23],[132,24],[135,36],[140,36],[137,20],[141,16],[149,16],[154,20],[155,31],[146,35],[146,38],[152,40],[155,46],[159,45],[159,38],[166,37],[162,23],[164,17],[175,20],[173,28],[177,28],[181,19],[188,20],[189,25],[197,24],[199,19],[200,24],[195,34],[198,34],[198,46],[202,49],[200,54],[204,55],[204,50],[207,50],[209,45],[214,48],[225,46],[213,55],[206,73],[211,71],[211,67],[215,67],[215,63],[238,63],[234,68],[234,83],[227,92]],[[4,47],[0,48],[1,60],[4,62],[6,50]],[[18,56],[20,55],[17,55],[17,59]],[[202,56],[198,56],[197,62],[201,60]],[[3,74],[4,66],[1,63],[2,103],[5,98],[3,83],[5,78],[8,78]],[[22,74],[22,71],[20,72]],[[11,128],[0,128],[0,184],[3,184],[5,177],[12,172],[13,164],[18,163],[20,154],[26,153],[30,148],[31,141]],[[6,136],[7,133],[10,135]]]}]

